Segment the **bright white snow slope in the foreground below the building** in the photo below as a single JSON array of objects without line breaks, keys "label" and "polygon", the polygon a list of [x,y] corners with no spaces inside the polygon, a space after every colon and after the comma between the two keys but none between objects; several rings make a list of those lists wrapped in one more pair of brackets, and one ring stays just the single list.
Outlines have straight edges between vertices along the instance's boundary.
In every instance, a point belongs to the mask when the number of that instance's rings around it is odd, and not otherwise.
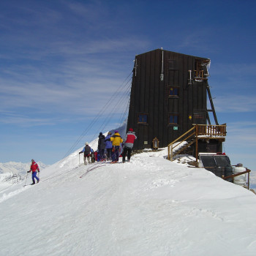
[{"label": "bright white snow slope in the foreground below the building", "polygon": [[79,151],[0,192],[0,255],[255,255],[252,192],[166,150],[87,166]]}]

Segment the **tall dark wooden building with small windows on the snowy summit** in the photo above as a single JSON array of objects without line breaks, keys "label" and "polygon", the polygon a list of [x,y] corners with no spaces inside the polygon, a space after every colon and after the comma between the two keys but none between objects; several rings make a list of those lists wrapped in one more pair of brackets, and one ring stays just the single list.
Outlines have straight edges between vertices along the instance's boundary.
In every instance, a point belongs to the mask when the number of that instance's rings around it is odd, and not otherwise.
[{"label": "tall dark wooden building with small windows on the snowy summit", "polygon": [[212,101],[207,109],[209,64],[210,59],[162,49],[135,56],[127,123],[138,135],[134,149],[151,148],[154,138],[166,147],[193,124],[211,124],[209,112],[218,124]]}]

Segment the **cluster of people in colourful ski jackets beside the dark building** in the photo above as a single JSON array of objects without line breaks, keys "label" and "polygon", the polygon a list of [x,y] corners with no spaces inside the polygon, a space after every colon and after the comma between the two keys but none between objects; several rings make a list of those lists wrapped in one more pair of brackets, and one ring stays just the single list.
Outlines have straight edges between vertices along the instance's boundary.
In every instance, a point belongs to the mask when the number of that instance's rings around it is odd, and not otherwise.
[{"label": "cluster of people in colourful ski jackets beside the dark building", "polygon": [[99,162],[106,160],[111,161],[111,163],[116,163],[118,162],[120,154],[123,163],[125,162],[126,156],[129,162],[131,159],[133,143],[136,139],[137,137],[132,128],[129,129],[124,140],[121,138],[118,130],[116,130],[113,135],[111,132],[108,132],[106,137],[102,132],[99,132],[97,151],[94,151],[89,146],[89,143],[86,142],[86,146],[79,152],[79,154],[83,153],[84,165],[91,164],[94,161]]}]

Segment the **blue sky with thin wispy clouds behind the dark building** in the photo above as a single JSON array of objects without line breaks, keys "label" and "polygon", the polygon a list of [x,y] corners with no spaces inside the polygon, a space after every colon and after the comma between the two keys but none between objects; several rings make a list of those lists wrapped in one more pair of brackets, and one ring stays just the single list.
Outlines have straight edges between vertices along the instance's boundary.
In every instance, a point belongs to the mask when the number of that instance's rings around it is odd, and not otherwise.
[{"label": "blue sky with thin wispy clouds behind the dark building", "polygon": [[74,143],[80,148],[100,129],[118,127],[135,55],[163,48],[211,59],[208,83],[219,124],[227,123],[225,151],[232,164],[256,170],[255,7],[236,0],[1,1],[0,162],[53,164]]}]

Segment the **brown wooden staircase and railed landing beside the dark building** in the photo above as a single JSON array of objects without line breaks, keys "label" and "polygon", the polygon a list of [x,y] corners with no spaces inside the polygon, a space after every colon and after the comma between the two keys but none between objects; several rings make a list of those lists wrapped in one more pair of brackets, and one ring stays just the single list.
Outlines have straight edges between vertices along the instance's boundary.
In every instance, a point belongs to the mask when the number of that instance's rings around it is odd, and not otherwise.
[{"label": "brown wooden staircase and railed landing beside the dark building", "polygon": [[[176,140],[168,145],[168,159],[173,161],[176,155],[180,154],[184,149],[196,143],[196,161],[198,158],[198,139],[223,139],[227,134],[227,125],[210,125],[210,124],[193,124],[193,127],[181,135]],[[187,142],[185,146],[181,147],[177,151],[173,151],[175,148],[181,145],[183,142]],[[178,143],[177,143],[178,142]],[[174,145],[176,143],[176,145]]]}]

